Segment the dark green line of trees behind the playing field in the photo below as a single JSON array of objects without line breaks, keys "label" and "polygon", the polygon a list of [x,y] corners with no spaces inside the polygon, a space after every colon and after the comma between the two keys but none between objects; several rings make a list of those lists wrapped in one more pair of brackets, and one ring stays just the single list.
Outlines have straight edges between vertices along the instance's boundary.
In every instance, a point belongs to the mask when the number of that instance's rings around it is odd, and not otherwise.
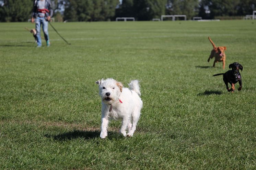
[{"label": "dark green line of trees behind the playing field", "polygon": [[[31,17],[34,0],[0,0],[0,21],[21,22]],[[201,16],[214,19],[245,16],[256,10],[256,0],[52,0],[57,20],[113,21],[135,17],[138,21],[161,15]]]}]

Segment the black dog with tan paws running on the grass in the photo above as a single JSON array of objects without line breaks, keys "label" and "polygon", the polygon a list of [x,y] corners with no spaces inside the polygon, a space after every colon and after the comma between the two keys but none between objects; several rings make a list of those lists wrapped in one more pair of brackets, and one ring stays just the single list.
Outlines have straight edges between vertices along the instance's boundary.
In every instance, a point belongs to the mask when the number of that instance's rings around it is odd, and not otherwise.
[{"label": "black dog with tan paws running on the grass", "polygon": [[[223,75],[223,81],[226,84],[227,90],[234,93],[235,83],[239,82],[240,87],[238,88],[238,91],[242,89],[242,77],[239,73],[239,69],[242,71],[243,66],[239,63],[232,63],[229,65],[229,68],[232,68],[232,70],[228,70],[226,73],[215,74],[213,76]],[[229,89],[228,83],[231,84],[231,89]]]}]

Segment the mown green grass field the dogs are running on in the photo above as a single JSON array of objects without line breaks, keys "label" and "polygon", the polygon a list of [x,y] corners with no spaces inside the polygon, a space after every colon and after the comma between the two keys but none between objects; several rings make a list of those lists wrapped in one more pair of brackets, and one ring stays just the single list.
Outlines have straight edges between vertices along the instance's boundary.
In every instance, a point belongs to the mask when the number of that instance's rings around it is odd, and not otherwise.
[{"label": "mown green grass field the dogs are running on", "polygon": [[[36,48],[31,23],[0,23],[0,169],[256,169],[256,22],[80,22],[49,26]],[[226,46],[226,68],[212,45]],[[222,76],[243,65],[243,88]],[[120,121],[100,139],[95,81],[141,80],[133,138]]]}]

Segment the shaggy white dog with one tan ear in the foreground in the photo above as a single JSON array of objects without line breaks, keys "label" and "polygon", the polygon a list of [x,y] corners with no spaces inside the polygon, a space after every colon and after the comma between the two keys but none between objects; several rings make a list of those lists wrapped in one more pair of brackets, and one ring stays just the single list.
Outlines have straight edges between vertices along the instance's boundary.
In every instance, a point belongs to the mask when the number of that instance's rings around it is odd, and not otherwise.
[{"label": "shaggy white dog with one tan ear in the foreground", "polygon": [[[132,137],[142,108],[139,81],[132,80],[129,83],[129,89],[123,88],[121,82],[112,78],[98,80],[96,84],[99,86],[99,94],[102,99],[101,138],[107,136],[110,119],[121,119],[122,124],[119,133]],[[126,134],[127,127],[128,133]]]}]

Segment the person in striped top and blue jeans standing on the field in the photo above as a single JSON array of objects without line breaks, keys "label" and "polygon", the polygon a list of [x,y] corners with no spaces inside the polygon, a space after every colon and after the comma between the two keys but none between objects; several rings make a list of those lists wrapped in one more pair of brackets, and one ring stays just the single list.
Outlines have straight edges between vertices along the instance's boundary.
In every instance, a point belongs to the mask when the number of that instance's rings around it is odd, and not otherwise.
[{"label": "person in striped top and blue jeans standing on the field", "polygon": [[49,0],[35,0],[32,13],[32,23],[36,23],[36,39],[37,47],[42,46],[40,29],[41,25],[44,32],[47,47],[50,46],[49,34],[48,34],[48,22],[53,16],[53,9]]}]

